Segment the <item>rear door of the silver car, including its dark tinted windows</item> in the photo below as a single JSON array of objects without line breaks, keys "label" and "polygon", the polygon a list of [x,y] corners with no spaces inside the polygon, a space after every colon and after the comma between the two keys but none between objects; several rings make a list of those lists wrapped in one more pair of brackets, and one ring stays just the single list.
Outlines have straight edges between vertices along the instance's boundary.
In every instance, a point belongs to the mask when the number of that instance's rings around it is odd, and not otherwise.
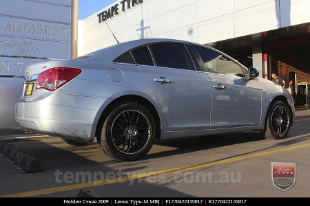
[{"label": "rear door of the silver car, including its dark tinted windows", "polygon": [[132,54],[161,106],[169,130],[209,129],[210,83],[196,71],[187,47],[156,43]]}]

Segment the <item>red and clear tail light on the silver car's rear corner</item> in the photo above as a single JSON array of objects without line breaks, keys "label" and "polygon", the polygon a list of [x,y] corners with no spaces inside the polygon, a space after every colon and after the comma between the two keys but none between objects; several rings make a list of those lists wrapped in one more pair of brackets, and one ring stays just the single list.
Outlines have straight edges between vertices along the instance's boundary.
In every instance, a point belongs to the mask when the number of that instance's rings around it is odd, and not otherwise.
[{"label": "red and clear tail light on the silver car's rear corner", "polygon": [[55,91],[78,76],[82,69],[55,67],[39,73],[37,79],[37,89]]}]

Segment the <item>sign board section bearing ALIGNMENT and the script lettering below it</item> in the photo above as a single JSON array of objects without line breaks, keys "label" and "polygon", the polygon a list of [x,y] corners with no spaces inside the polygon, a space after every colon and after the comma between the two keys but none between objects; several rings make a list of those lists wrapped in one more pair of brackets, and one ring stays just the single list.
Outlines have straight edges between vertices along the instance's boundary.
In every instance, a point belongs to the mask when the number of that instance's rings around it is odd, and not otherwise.
[{"label": "sign board section bearing ALIGNMENT and the script lettering below it", "polygon": [[14,19],[0,15],[0,55],[70,58],[69,24]]}]

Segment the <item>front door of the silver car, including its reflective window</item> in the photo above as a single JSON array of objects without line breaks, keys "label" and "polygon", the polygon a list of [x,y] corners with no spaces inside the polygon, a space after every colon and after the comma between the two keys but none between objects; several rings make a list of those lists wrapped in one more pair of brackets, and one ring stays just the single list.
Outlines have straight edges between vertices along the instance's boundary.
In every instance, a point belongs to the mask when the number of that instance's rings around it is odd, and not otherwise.
[{"label": "front door of the silver car, including its reflective window", "polygon": [[241,65],[213,49],[195,48],[211,83],[211,128],[258,126],[261,91],[247,86],[249,79]]}]

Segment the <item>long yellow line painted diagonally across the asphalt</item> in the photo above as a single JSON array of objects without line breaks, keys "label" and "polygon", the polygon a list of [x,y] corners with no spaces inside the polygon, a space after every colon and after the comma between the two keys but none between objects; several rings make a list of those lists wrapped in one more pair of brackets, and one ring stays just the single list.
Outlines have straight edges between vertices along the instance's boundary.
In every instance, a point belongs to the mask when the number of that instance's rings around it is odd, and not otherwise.
[{"label": "long yellow line painted diagonally across the asphalt", "polygon": [[29,191],[29,192],[7,194],[7,195],[0,196],[0,198],[2,198],[2,197],[40,196],[40,195],[44,195],[44,194],[53,194],[56,192],[79,190],[79,189],[83,189],[86,187],[95,187],[95,186],[107,185],[107,184],[112,184],[112,183],[120,183],[120,182],[124,182],[124,181],[133,181],[133,180],[137,180],[137,179],[145,179],[145,178],[148,178],[150,176],[156,176],[159,174],[169,174],[172,172],[184,172],[184,171],[188,171],[188,170],[197,170],[197,169],[201,169],[201,168],[208,168],[208,167],[215,166],[215,165],[221,165],[221,164],[225,164],[225,163],[234,163],[237,161],[242,161],[242,160],[246,160],[246,159],[253,159],[255,157],[262,157],[262,156],[266,156],[266,155],[273,155],[273,154],[276,154],[279,152],[287,152],[287,151],[291,151],[291,150],[297,150],[300,148],[306,148],[309,146],[310,146],[310,143],[299,144],[296,146],[290,146],[287,148],[280,148],[277,150],[270,150],[267,152],[259,152],[259,153],[250,154],[250,155],[241,155],[238,157],[223,159],[220,161],[212,161],[210,163],[201,163],[198,165],[190,165],[190,166],[181,167],[181,168],[173,168],[173,169],[161,170],[161,171],[157,171],[157,172],[147,172],[144,174],[136,174],[136,175],[131,175],[131,176],[123,176],[123,177],[118,177],[118,178],[113,178],[113,179],[105,179],[102,181],[93,181],[90,183],[79,183],[79,184],[75,184],[75,185],[66,185],[66,186],[52,187],[52,188],[47,188],[47,189],[42,189],[42,190],[33,190],[33,191]]}]

